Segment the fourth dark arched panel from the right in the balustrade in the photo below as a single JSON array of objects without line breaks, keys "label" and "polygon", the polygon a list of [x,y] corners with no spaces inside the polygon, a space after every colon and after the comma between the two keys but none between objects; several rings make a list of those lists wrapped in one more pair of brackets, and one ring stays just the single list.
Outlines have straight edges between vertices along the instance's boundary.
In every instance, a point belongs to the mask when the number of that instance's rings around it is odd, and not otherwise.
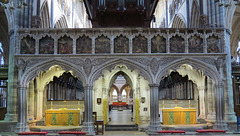
[{"label": "fourth dark arched panel from the right in the balustrade", "polygon": [[166,53],[166,39],[161,36],[155,36],[152,38],[152,53]]}]

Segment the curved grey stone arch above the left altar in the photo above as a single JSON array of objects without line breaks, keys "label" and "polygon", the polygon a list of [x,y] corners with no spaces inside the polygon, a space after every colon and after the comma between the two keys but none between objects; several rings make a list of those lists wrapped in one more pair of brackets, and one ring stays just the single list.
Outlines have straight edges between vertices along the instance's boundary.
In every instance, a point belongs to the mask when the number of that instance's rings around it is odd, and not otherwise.
[{"label": "curved grey stone arch above the left altar", "polygon": [[54,65],[61,66],[62,69],[65,71],[72,71],[73,76],[79,78],[84,86],[86,85],[86,76],[84,76],[85,74],[81,70],[79,70],[76,65],[57,59],[47,60],[32,65],[30,68],[23,72],[22,76],[20,77],[20,85],[27,86],[29,81],[37,77],[40,71],[47,71],[50,67]]}]

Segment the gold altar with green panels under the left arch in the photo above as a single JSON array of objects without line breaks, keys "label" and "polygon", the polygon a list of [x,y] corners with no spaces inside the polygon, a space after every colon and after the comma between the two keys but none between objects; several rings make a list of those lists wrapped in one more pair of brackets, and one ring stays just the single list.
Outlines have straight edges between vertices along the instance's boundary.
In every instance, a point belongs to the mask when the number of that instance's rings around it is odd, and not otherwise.
[{"label": "gold altar with green panels under the left arch", "polygon": [[45,111],[46,126],[78,126],[80,110],[51,109]]}]

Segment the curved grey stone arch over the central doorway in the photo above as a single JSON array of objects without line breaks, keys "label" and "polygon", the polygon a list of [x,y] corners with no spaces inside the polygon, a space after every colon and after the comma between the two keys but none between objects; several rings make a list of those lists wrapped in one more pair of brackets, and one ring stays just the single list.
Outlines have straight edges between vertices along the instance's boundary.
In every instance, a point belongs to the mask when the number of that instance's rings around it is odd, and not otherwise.
[{"label": "curved grey stone arch over the central doorway", "polygon": [[111,71],[112,69],[114,69],[114,67],[118,65],[126,66],[131,71],[138,70],[139,75],[143,76],[147,81],[149,81],[149,83],[153,83],[153,77],[150,75],[150,72],[144,66],[126,59],[113,60],[108,62],[108,64],[99,66],[97,69],[95,69],[95,72],[90,75],[88,83],[93,83],[94,81],[96,81],[100,76],[104,74],[104,70]]}]

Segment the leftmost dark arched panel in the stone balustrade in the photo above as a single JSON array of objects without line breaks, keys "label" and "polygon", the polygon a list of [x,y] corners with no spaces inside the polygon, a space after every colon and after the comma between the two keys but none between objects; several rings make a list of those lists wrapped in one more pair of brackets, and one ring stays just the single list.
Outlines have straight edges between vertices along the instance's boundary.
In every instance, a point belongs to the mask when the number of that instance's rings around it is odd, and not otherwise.
[{"label": "leftmost dark arched panel in the stone balustrade", "polygon": [[35,39],[27,36],[21,40],[21,54],[35,54]]}]

